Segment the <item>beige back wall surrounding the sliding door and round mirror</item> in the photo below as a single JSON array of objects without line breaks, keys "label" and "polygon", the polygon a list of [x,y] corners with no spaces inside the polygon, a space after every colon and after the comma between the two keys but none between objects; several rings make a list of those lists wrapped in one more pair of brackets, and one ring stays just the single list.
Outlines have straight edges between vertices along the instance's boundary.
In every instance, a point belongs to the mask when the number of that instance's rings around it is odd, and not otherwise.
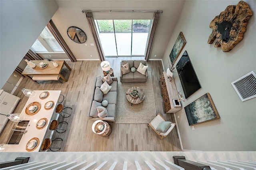
[{"label": "beige back wall surrounding the sliding door and round mirror", "polygon": [[[86,0],[86,1],[63,1],[56,0],[59,9],[52,17],[52,20],[58,28],[65,42],[70,47],[76,59],[99,59],[96,46],[90,46],[94,43],[86,15],[82,10],[102,10],[102,11],[155,11],[163,10],[160,14],[156,36],[152,47],[150,58],[162,58],[166,45],[170,40],[172,31],[174,30],[178,16],[182,10],[184,1],[166,1],[166,0]],[[150,18],[148,18],[150,14]],[[152,19],[153,13],[93,13],[94,19]],[[132,16],[132,17],[131,17]],[[76,26],[82,29],[87,36],[85,46],[84,43],[79,44],[70,40],[67,35],[67,29],[70,26]],[[92,55],[92,57],[90,57]],[[154,57],[156,55],[157,57]]]}]

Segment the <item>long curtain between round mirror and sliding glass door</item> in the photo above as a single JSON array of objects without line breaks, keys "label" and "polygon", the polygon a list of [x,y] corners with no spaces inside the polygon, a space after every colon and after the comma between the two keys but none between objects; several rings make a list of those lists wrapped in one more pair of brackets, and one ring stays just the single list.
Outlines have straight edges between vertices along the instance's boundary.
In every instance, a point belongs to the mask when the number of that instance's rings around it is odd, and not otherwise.
[{"label": "long curtain between round mirror and sliding glass door", "polygon": [[100,39],[99,39],[98,32],[96,30],[95,23],[94,23],[94,20],[93,20],[93,17],[92,17],[92,12],[85,12],[85,14],[86,14],[86,18],[88,20],[89,26],[91,28],[92,35],[94,37],[98,52],[100,54],[100,60],[104,61],[105,60],[105,55],[104,55],[102,46],[100,44]]}]

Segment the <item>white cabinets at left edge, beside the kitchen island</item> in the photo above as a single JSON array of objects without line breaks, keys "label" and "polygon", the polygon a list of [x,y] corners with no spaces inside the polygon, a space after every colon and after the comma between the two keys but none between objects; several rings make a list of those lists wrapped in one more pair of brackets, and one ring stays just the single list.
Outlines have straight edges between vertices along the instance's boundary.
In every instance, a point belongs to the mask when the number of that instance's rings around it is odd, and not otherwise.
[{"label": "white cabinets at left edge, beside the kitchen island", "polygon": [[11,114],[20,101],[20,97],[11,95],[3,90],[0,90],[0,132],[8,121],[6,115]]}]

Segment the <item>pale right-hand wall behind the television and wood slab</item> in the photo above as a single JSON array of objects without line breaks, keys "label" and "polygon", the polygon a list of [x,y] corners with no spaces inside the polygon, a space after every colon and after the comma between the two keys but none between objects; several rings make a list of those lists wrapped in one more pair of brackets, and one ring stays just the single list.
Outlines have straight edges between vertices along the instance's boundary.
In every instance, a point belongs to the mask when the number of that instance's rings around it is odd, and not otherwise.
[{"label": "pale right-hand wall behind the television and wood slab", "polygon": [[[254,15],[246,27],[243,40],[231,51],[208,44],[212,32],[209,24],[228,5],[236,5],[238,0],[188,0],[164,53],[165,69],[167,59],[177,39],[183,32],[186,50],[196,71],[201,89],[182,102],[182,107],[190,104],[205,93],[210,93],[220,119],[194,125],[191,130],[184,109],[176,113],[178,127],[184,149],[201,151],[255,151],[256,150],[256,98],[242,102],[231,83],[243,75],[256,73],[256,1],[246,1]],[[179,59],[178,59],[179,60]],[[178,91],[182,90],[180,79],[174,74]],[[184,94],[184,93],[183,93]]]}]

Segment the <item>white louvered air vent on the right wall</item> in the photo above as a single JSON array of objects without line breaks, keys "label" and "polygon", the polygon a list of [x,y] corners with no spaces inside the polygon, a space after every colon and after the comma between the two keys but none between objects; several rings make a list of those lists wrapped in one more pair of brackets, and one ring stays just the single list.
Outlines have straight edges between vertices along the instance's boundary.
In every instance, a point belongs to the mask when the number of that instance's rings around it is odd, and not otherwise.
[{"label": "white louvered air vent on the right wall", "polygon": [[254,71],[231,83],[242,101],[256,97],[256,74]]}]

